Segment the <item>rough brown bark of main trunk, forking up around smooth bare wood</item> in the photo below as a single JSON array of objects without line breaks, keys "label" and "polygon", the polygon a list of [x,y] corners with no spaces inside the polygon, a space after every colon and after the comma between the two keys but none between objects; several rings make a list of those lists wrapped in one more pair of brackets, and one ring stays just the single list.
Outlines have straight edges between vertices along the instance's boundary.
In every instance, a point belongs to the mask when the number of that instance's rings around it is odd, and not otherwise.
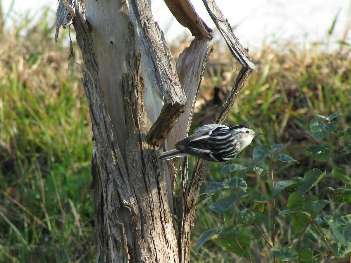
[{"label": "rough brown bark of main trunk, forking up around smooth bare wood", "polygon": [[132,27],[127,28],[126,72],[115,87],[121,89],[128,149],[119,150],[104,103],[94,43],[81,14],[73,19],[78,45],[87,71],[84,87],[94,134],[94,207],[98,260],[107,262],[178,262],[176,235],[168,206],[164,171],[155,146],[146,143],[141,62],[135,54]]}]

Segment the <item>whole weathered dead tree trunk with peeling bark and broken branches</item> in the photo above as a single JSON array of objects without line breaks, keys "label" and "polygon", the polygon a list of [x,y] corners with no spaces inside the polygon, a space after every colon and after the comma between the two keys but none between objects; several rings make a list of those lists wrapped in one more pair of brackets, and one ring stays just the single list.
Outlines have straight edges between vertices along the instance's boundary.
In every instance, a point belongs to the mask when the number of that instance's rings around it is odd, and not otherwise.
[{"label": "whole weathered dead tree trunk with peeling bark and broken branches", "polygon": [[[243,66],[215,118],[221,123],[254,66],[215,2],[203,1]],[[166,0],[195,36],[176,65],[146,0],[81,2],[60,1],[56,40],[58,28],[72,19],[93,127],[97,259],[189,262],[190,228],[204,166],[199,162],[188,179],[185,160],[179,196],[172,196],[174,174],[157,154],[188,133],[212,52],[212,31],[188,0]]]}]

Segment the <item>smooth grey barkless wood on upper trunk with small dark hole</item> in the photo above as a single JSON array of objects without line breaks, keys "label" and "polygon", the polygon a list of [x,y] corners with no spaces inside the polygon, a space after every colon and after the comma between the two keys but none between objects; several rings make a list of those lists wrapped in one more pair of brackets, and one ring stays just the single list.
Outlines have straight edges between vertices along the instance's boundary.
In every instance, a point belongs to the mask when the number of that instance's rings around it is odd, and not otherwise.
[{"label": "smooth grey barkless wood on upper trunk with small dark hole", "polygon": [[126,61],[126,39],[130,19],[121,1],[86,1],[85,9],[89,32],[99,60],[99,79],[104,101],[124,159],[124,138],[128,131],[124,125],[126,120],[123,114],[122,91],[119,87],[127,70],[125,62],[121,61]]}]

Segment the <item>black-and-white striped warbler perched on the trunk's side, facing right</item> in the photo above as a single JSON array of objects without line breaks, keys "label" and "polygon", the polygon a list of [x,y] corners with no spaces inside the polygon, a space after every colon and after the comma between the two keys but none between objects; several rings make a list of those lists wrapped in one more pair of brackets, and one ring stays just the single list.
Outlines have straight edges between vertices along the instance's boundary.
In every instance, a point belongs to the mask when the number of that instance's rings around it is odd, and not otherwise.
[{"label": "black-and-white striped warbler perched on the trunk's side, facing right", "polygon": [[229,128],[207,124],[198,128],[193,135],[177,142],[176,149],[159,154],[158,159],[166,161],[192,155],[207,162],[226,162],[237,156],[256,135],[263,134],[255,133],[245,125]]}]

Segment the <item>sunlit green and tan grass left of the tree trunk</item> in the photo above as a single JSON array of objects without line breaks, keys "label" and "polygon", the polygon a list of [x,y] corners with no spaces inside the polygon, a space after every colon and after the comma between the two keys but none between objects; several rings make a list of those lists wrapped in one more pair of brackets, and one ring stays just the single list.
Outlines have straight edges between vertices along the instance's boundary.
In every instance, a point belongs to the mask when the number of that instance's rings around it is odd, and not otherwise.
[{"label": "sunlit green and tan grass left of the tree trunk", "polygon": [[90,117],[80,71],[45,21],[0,36],[2,262],[95,256]]}]

